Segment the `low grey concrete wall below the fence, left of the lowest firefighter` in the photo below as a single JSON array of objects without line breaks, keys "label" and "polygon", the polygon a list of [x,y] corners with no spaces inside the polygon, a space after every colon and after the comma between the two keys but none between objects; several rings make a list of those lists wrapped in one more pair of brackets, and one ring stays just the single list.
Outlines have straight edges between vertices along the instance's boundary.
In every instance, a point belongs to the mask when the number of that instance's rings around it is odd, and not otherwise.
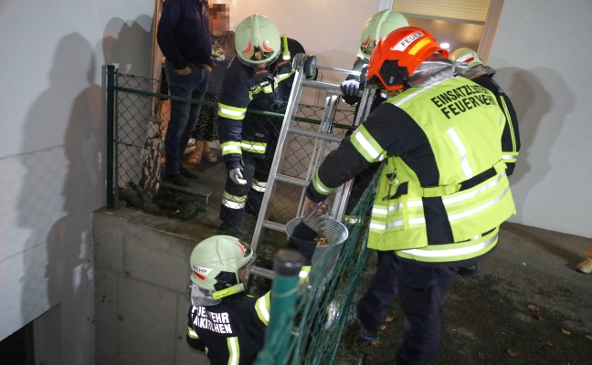
[{"label": "low grey concrete wall below the fence, left of the lowest firefighter", "polygon": [[93,214],[96,365],[207,365],[185,341],[195,226],[128,209]]}]

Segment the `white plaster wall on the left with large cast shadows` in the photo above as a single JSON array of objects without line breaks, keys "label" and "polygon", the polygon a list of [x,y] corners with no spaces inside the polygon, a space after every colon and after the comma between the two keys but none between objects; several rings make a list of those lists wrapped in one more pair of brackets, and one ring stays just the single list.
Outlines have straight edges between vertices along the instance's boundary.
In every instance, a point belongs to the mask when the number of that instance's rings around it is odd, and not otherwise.
[{"label": "white plaster wall on the left with large cast shadows", "polygon": [[145,0],[0,2],[0,339],[37,318],[37,363],[94,363],[101,68],[148,75],[152,13]]}]

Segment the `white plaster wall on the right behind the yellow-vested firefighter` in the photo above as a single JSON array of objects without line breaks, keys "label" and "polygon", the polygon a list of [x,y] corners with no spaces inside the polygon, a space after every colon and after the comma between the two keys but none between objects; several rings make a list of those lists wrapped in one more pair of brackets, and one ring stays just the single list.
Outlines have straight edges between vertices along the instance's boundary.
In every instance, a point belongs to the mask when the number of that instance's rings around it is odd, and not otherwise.
[{"label": "white plaster wall on the right behind the yellow-vested firefighter", "polygon": [[522,151],[512,221],[592,236],[592,2],[506,0],[492,47]]}]

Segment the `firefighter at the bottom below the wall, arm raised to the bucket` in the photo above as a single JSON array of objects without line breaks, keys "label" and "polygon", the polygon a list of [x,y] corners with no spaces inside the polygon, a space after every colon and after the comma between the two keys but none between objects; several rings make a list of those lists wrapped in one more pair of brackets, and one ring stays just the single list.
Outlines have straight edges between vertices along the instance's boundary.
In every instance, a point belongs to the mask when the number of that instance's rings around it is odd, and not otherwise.
[{"label": "firefighter at the bottom below the wall, arm raised to the bucket", "polygon": [[[304,256],[304,266],[311,265],[314,238],[324,234],[324,210],[326,206],[305,217],[290,237],[288,247]],[[261,297],[244,293],[253,262],[255,254],[248,245],[229,235],[207,238],[191,253],[186,340],[192,348],[206,351],[211,364],[251,364],[263,347],[270,292]]]}]

